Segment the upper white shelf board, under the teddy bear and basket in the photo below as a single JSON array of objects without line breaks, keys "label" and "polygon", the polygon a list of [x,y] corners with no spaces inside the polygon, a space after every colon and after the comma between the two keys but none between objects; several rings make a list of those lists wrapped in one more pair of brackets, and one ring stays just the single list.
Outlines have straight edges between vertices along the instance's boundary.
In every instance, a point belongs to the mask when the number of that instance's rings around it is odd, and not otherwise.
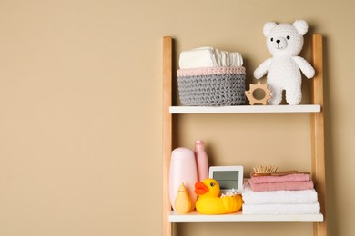
[{"label": "upper white shelf board, under the teddy bear and basket", "polygon": [[319,104],[305,105],[235,105],[170,106],[170,113],[320,113]]}]

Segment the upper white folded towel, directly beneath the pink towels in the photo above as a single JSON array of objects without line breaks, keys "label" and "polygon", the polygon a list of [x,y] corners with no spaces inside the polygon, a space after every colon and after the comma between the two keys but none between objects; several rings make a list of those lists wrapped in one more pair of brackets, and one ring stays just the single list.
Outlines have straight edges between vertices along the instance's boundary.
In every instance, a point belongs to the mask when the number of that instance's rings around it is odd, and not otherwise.
[{"label": "upper white folded towel, directly beneath the pink towels", "polygon": [[244,183],[242,192],[243,201],[246,205],[255,204],[310,204],[318,202],[317,192],[312,190],[299,191],[252,191],[249,183]]}]

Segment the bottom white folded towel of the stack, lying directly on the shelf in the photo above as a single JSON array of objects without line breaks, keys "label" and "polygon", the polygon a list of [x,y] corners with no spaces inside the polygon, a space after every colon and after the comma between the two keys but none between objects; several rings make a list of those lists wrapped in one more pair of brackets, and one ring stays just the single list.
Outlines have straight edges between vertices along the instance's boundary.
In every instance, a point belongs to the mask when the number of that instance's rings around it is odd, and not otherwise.
[{"label": "bottom white folded towel of the stack, lying directly on the shelf", "polygon": [[320,203],[313,204],[261,204],[242,206],[243,214],[317,214]]}]

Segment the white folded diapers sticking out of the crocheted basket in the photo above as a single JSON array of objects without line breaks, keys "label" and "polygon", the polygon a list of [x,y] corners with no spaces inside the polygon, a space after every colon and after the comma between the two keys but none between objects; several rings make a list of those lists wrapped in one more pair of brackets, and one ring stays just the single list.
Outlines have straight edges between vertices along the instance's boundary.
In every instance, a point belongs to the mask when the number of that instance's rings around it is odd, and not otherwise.
[{"label": "white folded diapers sticking out of the crocheted basket", "polygon": [[199,47],[181,52],[178,64],[180,69],[242,66],[243,58],[239,53],[219,51],[213,47]]}]

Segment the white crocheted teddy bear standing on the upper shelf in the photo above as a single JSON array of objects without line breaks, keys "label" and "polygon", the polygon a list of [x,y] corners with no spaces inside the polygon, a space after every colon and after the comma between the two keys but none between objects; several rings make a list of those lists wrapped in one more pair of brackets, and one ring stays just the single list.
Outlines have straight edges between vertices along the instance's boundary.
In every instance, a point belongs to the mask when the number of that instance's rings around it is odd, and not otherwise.
[{"label": "white crocheted teddy bear standing on the upper shelf", "polygon": [[260,79],[268,73],[267,81],[272,91],[270,104],[281,103],[283,90],[286,91],[287,103],[299,104],[302,99],[300,71],[309,79],[315,74],[313,67],[298,56],[303,47],[303,35],[307,33],[308,27],[303,20],[293,24],[268,22],[264,25],[263,33],[273,57],[259,65],[254,71],[254,77]]}]

